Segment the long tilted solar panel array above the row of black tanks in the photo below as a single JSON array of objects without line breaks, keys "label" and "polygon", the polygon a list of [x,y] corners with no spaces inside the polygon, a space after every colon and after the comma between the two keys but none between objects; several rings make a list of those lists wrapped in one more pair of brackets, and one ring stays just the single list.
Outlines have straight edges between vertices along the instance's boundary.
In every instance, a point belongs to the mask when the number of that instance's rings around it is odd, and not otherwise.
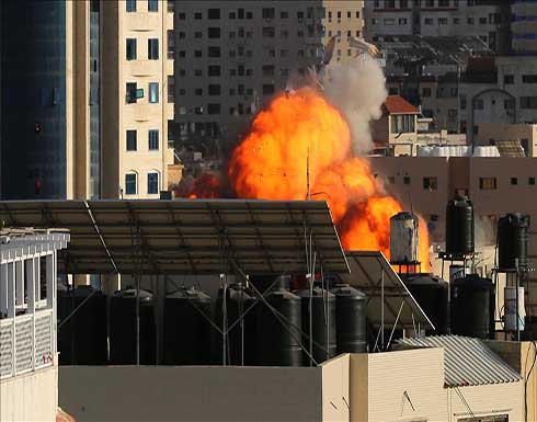
[{"label": "long tilted solar panel array above the row of black tanks", "polygon": [[310,233],[324,271],[349,272],[321,201],[7,201],[0,219],[69,229],[58,265],[73,274],[307,273]]}]

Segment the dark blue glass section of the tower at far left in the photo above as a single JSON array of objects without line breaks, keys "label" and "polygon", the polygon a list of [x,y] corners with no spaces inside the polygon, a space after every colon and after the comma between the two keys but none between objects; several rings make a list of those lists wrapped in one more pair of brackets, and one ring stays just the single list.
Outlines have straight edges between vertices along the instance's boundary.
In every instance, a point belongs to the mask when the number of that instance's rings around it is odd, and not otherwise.
[{"label": "dark blue glass section of the tower at far left", "polygon": [[66,2],[2,1],[2,198],[64,198]]}]

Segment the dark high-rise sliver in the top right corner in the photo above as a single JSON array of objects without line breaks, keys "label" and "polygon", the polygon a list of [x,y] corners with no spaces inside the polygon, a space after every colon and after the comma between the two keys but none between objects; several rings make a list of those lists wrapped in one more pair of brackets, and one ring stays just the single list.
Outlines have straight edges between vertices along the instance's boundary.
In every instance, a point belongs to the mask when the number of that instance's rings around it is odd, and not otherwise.
[{"label": "dark high-rise sliver in the top right corner", "polygon": [[514,0],[511,5],[512,50],[537,55],[537,2]]}]

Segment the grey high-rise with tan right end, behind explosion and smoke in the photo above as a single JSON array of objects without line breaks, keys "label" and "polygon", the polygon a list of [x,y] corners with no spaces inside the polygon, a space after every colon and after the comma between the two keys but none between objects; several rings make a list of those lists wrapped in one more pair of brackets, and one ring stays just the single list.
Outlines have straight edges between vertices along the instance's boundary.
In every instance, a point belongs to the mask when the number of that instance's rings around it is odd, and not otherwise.
[{"label": "grey high-rise with tan right end, behind explosion and smoke", "polygon": [[363,3],[176,1],[178,145],[233,145],[272,95],[319,69],[332,37],[332,60],[355,58],[350,41],[362,37]]}]

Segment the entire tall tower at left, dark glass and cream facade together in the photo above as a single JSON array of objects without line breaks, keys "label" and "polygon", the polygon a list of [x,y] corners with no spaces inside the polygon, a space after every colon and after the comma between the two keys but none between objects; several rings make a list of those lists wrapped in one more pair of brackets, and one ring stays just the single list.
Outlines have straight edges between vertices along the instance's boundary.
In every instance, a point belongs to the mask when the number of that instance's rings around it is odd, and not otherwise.
[{"label": "entire tall tower at left, dark glass and cream facade together", "polygon": [[156,0],[1,3],[1,197],[158,197],[173,163],[173,9]]}]

